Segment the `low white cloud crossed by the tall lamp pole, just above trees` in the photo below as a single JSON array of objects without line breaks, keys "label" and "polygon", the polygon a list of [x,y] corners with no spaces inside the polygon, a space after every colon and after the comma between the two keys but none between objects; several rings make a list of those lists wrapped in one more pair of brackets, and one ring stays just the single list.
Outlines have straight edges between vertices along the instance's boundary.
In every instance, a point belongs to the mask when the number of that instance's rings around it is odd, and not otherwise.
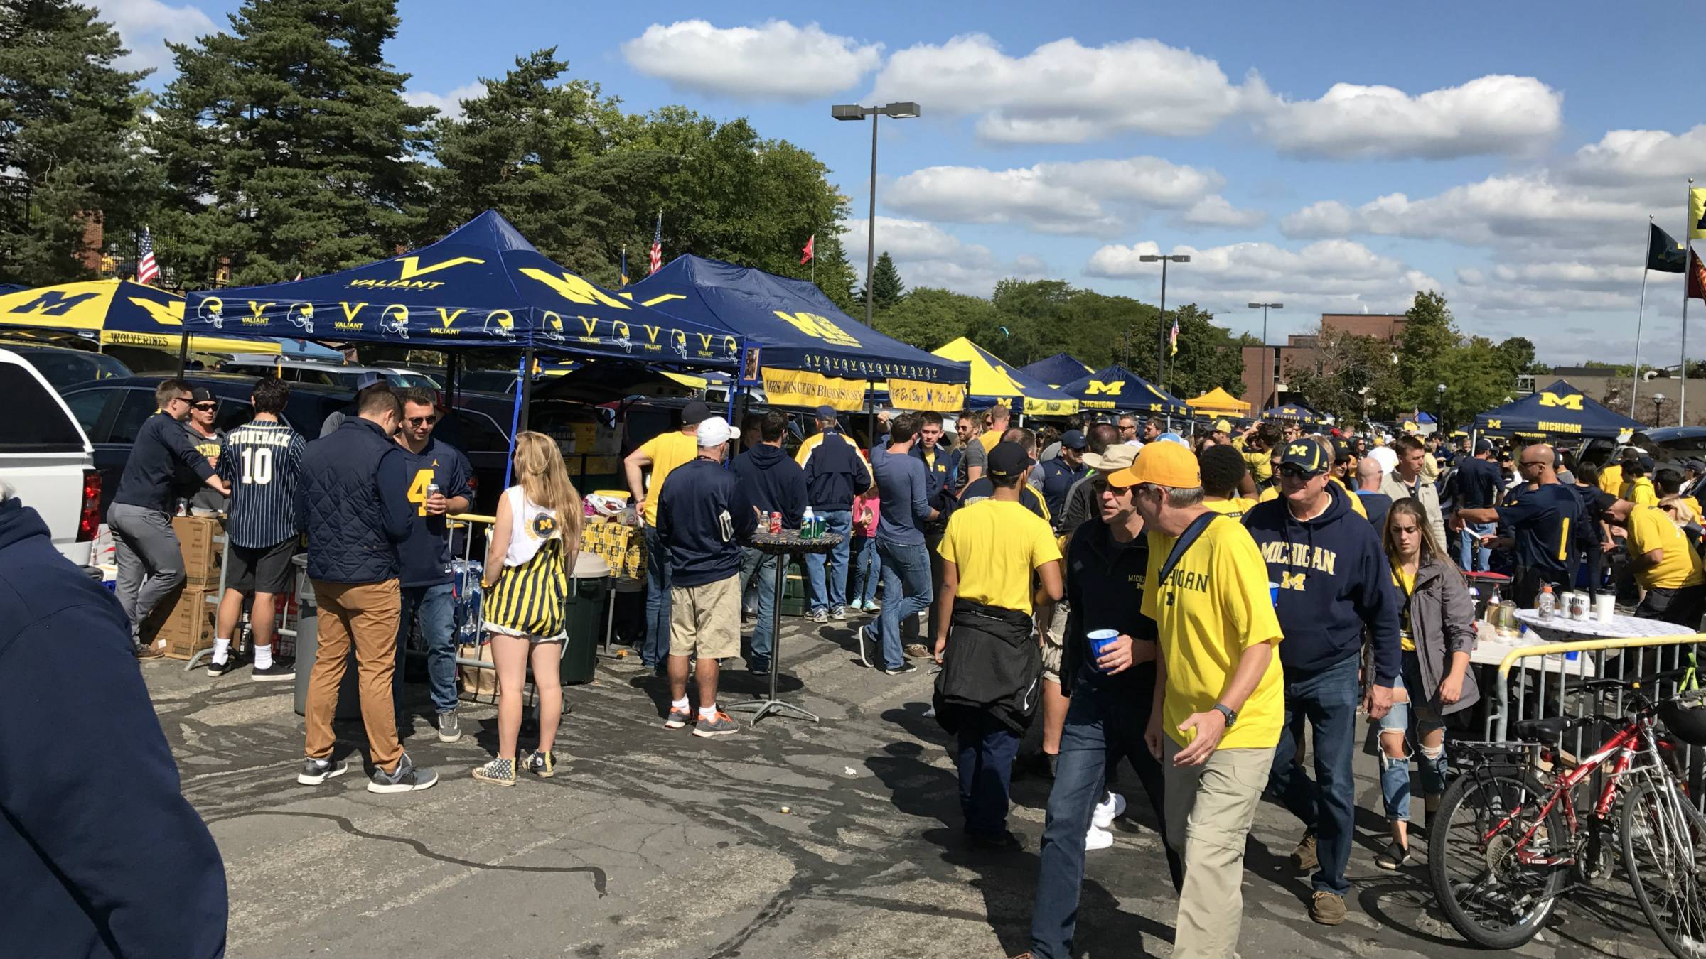
[{"label": "low white cloud crossed by the tall lamp pole, just above trees", "polygon": [[[841,224],[841,244],[855,261],[863,283],[865,276],[865,218]],[[1049,275],[1046,263],[1036,256],[998,259],[989,247],[962,242],[942,227],[925,220],[877,217],[877,253],[894,258],[901,280],[911,287],[943,287],[960,294],[988,297],[996,280],[1018,276],[1037,280]]]}]

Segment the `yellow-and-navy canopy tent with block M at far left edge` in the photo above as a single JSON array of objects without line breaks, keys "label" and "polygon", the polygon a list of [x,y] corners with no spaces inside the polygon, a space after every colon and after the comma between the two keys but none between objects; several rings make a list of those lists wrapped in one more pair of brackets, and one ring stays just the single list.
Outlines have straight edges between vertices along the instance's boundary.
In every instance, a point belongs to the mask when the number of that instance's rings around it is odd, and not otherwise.
[{"label": "yellow-and-navy canopy tent with block M at far left edge", "polygon": [[[184,334],[184,297],[130,280],[87,280],[0,295],[0,328],[92,333],[102,345],[176,352]],[[196,353],[281,353],[276,340],[191,336]]]}]

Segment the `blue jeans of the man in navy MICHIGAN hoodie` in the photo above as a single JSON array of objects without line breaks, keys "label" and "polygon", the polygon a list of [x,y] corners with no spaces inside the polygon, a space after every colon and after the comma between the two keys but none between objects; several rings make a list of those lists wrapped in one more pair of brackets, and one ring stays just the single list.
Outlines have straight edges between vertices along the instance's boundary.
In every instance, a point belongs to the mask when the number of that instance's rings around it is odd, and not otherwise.
[{"label": "blue jeans of the man in navy MICHIGAN hoodie", "polygon": [[[1351,884],[1344,867],[1351,863],[1351,826],[1356,817],[1356,780],[1351,776],[1351,751],[1356,746],[1356,703],[1360,700],[1358,667],[1361,657],[1348,655],[1314,672],[1285,674],[1285,729],[1274,749],[1274,768],[1268,775],[1268,793],[1285,802],[1303,826],[1315,834],[1320,870],[1317,892],[1346,896]],[[1315,732],[1315,778],[1297,764],[1297,744],[1303,724]]]}]

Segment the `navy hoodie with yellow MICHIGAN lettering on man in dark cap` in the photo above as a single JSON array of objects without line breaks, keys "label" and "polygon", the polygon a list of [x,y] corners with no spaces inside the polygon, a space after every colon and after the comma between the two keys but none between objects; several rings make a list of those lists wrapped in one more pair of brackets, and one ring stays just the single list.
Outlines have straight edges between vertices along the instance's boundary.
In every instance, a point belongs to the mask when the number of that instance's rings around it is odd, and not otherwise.
[{"label": "navy hoodie with yellow MICHIGAN lettering on man in dark cap", "polygon": [[1280,662],[1291,672],[1336,665],[1363,648],[1363,626],[1373,638],[1375,683],[1390,686],[1399,674],[1399,596],[1380,538],[1351,512],[1338,483],[1331,502],[1312,520],[1291,515],[1285,498],[1256,503],[1244,526],[1280,584]]}]

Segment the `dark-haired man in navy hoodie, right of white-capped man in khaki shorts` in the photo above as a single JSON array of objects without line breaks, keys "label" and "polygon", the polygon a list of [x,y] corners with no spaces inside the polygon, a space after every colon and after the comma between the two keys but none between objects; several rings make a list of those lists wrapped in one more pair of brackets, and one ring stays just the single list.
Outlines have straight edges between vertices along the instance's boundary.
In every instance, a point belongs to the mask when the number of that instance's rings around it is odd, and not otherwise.
[{"label": "dark-haired man in navy hoodie, right of white-capped man in khaki shorts", "polygon": [[[769,529],[769,514],[778,512],[783,529],[800,529],[800,515],[805,514],[805,471],[781,450],[781,439],[788,435],[788,415],[776,410],[764,413],[757,435],[759,442],[737,456],[730,469],[740,480],[747,500],[757,507],[763,529]],[[752,672],[769,672],[776,645],[773,628],[778,563],[781,556],[776,553],[761,553],[751,546],[740,551],[742,596],[749,585],[757,585],[757,621],[752,625],[751,643],[742,650]],[[752,577],[757,577],[757,584],[752,584]]]}]

